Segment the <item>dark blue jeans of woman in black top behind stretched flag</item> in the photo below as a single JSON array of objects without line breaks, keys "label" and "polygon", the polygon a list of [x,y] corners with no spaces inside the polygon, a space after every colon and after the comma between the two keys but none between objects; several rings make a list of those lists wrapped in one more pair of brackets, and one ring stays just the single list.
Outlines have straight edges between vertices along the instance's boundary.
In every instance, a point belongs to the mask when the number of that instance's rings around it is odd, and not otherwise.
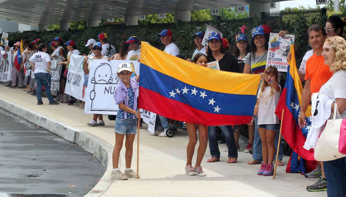
[{"label": "dark blue jeans of woman in black top behind stretched flag", "polygon": [[[218,126],[208,126],[208,140],[209,140],[209,149],[210,149],[211,157],[220,158],[220,150],[219,150],[217,131],[216,131],[217,127]],[[228,147],[228,158],[238,157],[237,145],[234,139],[232,126],[230,125],[220,126],[220,129],[222,133],[224,133],[224,137]]]}]

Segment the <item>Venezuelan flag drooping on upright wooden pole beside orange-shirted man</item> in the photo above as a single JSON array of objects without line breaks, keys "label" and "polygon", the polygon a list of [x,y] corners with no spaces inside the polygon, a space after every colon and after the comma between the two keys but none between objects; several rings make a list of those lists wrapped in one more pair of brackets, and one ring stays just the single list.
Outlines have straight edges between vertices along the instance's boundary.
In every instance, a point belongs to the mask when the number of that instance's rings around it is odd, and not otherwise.
[{"label": "Venezuelan flag drooping on upright wooden pole beside orange-shirted man", "polygon": [[[316,161],[313,157],[313,150],[308,151],[303,148],[310,125],[305,128],[299,128],[298,125],[303,86],[295,63],[293,45],[291,45],[290,53],[292,54],[292,59],[289,62],[286,83],[279,103],[276,106],[275,114],[281,119],[282,109],[284,109],[283,120],[281,120],[282,135],[294,151],[287,165],[286,172],[301,171],[306,173],[315,169]],[[311,105],[309,105],[305,116],[306,122],[311,124],[308,118],[311,116]]]}]

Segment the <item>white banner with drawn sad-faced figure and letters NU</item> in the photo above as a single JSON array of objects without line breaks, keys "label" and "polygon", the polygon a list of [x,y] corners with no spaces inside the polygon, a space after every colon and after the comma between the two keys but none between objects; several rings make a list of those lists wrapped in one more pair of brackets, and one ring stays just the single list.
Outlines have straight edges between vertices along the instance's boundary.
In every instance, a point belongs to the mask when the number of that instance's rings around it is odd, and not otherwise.
[{"label": "white banner with drawn sad-faced figure and letters NU", "polygon": [[117,75],[118,65],[122,63],[132,65],[134,71],[132,77],[139,74],[138,61],[110,60],[108,62],[108,60],[95,59],[91,62],[88,87],[84,97],[84,113],[117,115],[119,109],[113,94],[120,81]]}]

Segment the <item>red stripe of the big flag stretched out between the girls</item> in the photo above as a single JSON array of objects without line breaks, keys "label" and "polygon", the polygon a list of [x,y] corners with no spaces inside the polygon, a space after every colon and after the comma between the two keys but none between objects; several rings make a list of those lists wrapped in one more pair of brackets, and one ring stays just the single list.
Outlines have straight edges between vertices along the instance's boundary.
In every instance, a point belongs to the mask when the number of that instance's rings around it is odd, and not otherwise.
[{"label": "red stripe of the big flag stretched out between the girls", "polygon": [[154,112],[169,119],[209,126],[246,124],[251,120],[251,116],[203,112],[144,87],[139,87],[138,108]]}]

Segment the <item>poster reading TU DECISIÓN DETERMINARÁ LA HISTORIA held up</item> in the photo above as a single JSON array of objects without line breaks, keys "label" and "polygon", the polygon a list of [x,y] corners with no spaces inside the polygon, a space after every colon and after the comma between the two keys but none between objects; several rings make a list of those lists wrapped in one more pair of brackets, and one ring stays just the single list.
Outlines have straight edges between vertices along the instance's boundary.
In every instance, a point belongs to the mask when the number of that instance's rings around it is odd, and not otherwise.
[{"label": "poster reading TU DECISI\u00d3N DETERMINAR\u00c1 LA HISTORIA held up", "polygon": [[266,67],[274,66],[279,72],[287,72],[286,58],[293,43],[294,35],[286,34],[280,37],[279,34],[270,33]]}]

